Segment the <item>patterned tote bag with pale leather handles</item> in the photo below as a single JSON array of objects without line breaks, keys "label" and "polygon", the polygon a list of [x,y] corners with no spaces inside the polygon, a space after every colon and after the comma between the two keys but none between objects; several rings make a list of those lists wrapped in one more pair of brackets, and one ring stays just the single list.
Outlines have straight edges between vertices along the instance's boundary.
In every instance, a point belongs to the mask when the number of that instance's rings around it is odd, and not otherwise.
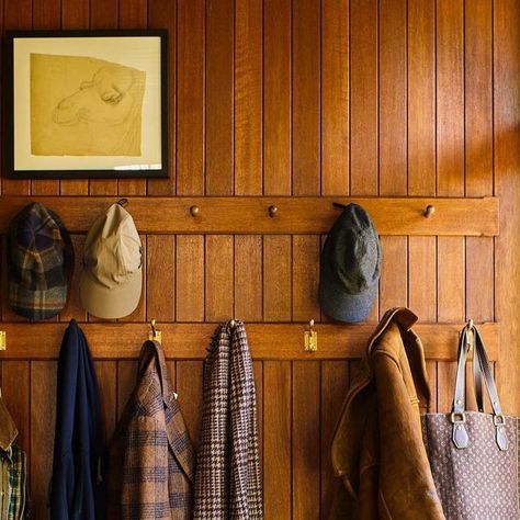
[{"label": "patterned tote bag with pale leather handles", "polygon": [[[479,411],[465,409],[465,364],[474,347],[473,376]],[[502,414],[486,349],[468,325],[459,342],[451,414],[422,416],[431,472],[448,520],[520,519],[520,420]],[[484,414],[483,387],[493,414]]]}]

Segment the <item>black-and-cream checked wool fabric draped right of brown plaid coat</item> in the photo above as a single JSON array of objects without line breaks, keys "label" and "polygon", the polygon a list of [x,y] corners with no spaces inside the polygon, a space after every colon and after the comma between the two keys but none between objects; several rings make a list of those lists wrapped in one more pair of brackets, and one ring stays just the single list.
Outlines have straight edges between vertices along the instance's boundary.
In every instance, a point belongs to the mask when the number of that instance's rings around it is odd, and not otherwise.
[{"label": "black-and-cream checked wool fabric draped right of brown plaid coat", "polygon": [[246,328],[222,325],[204,362],[195,519],[262,519],[257,403]]}]

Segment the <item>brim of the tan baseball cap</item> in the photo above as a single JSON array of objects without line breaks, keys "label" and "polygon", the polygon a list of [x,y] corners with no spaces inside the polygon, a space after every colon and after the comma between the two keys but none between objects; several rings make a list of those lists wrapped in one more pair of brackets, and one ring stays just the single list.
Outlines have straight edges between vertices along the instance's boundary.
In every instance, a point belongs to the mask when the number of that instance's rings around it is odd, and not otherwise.
[{"label": "brim of the tan baseball cap", "polygon": [[87,270],[79,283],[81,304],[92,316],[104,319],[123,318],[139,304],[143,287],[143,270],[128,274],[125,283],[109,289],[95,281]]}]

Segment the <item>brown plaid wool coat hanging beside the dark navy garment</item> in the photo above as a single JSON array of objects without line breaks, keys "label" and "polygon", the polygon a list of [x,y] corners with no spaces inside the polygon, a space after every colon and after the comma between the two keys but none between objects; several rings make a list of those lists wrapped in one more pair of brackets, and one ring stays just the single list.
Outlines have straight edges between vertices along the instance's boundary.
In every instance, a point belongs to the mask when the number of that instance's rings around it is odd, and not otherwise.
[{"label": "brown plaid wool coat hanging beside the dark navy garment", "polygon": [[108,518],[191,519],[194,464],[162,348],[146,341],[137,385],[110,445]]}]

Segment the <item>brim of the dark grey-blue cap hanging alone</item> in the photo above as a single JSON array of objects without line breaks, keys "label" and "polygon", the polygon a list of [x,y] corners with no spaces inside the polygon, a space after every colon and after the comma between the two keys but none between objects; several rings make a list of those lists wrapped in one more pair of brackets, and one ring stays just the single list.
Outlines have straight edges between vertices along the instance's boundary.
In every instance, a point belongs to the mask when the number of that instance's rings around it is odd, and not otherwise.
[{"label": "brim of the dark grey-blue cap hanging alone", "polygon": [[339,286],[338,282],[321,274],[319,280],[319,305],[321,310],[329,318],[337,321],[347,324],[364,321],[374,305],[378,280],[375,280],[366,291],[359,294],[346,293]]}]

